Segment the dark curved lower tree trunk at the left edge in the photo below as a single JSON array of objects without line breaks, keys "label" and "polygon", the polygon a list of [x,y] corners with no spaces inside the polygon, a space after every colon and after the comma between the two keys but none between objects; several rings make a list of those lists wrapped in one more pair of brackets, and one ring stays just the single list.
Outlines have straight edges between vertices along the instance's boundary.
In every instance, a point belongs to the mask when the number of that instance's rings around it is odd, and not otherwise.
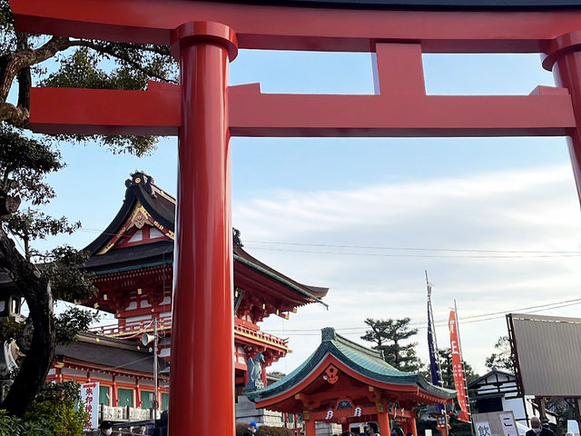
[{"label": "dark curved lower tree trunk at the left edge", "polygon": [[20,365],[15,382],[1,407],[22,416],[43,386],[54,360],[55,327],[53,294],[50,283],[33,263],[27,262],[15,249],[4,229],[0,227],[0,268],[8,272],[23,292],[33,320],[34,333],[30,351]]}]

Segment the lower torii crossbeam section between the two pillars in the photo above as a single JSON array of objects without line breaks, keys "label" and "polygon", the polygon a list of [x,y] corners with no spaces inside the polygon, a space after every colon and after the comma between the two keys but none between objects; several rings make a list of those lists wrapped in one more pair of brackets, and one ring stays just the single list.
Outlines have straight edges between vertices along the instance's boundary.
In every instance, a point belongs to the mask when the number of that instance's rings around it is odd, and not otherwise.
[{"label": "lower torii crossbeam section between the two pillars", "polygon": [[[565,135],[562,94],[512,96],[261,94],[231,88],[234,136]],[[558,91],[557,91],[558,92]]]}]

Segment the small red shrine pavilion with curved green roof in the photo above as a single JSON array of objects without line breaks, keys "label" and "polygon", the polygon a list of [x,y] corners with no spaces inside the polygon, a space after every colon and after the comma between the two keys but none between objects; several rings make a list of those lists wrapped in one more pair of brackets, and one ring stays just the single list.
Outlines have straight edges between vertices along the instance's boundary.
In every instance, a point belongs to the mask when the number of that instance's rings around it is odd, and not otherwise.
[{"label": "small red shrine pavilion with curved green roof", "polygon": [[389,435],[389,422],[406,434],[418,436],[419,404],[453,404],[456,391],[440,388],[412,372],[401,372],[382,354],[340,336],[333,328],[321,330],[321,342],[309,359],[280,381],[248,398],[257,408],[301,413],[305,436],[315,436],[315,423],[351,424],[375,421],[379,434]]}]

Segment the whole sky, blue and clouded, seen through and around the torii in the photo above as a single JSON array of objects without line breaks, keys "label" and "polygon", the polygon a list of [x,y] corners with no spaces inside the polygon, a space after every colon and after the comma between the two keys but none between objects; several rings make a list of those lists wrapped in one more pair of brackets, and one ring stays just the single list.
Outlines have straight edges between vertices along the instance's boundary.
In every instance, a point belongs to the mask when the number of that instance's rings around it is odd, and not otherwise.
[{"label": "whole sky, blue and clouded, seen through and around the torii", "polygon": [[[428,94],[528,94],[537,84],[554,84],[537,54],[428,54],[424,68]],[[373,90],[369,54],[241,51],[231,84],[252,82],[265,93]],[[445,257],[578,250],[579,202],[564,138],[233,138],[232,144],[233,219],[246,249],[299,282],[330,287],[329,311],[310,305],[289,321],[264,323],[264,330],[291,338],[294,352],[275,369],[300,364],[322,327],[358,340],[366,317],[411,317],[422,329],[417,340],[425,362],[424,270],[435,284],[436,320],[447,319],[457,299],[465,358],[480,372],[506,322],[500,316],[464,325],[463,317],[577,298],[576,257]],[[84,223],[66,238],[77,247],[113,219],[134,170],[175,193],[175,138],[163,138],[142,159],[95,144],[62,145],[68,167],[50,177],[58,197],[48,210]],[[356,248],[362,246],[380,248]],[[545,313],[576,316],[578,308]],[[446,327],[437,332],[440,346],[446,344]]]}]

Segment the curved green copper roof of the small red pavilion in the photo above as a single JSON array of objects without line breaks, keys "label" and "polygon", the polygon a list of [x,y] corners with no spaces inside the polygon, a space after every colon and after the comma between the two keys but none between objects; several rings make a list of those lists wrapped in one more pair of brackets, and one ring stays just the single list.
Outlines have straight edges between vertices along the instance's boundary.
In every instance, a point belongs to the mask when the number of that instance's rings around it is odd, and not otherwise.
[{"label": "curved green copper roof of the small red pavilion", "polygon": [[428,392],[443,399],[456,397],[456,391],[438,388],[413,372],[402,372],[395,369],[382,359],[381,352],[370,350],[359,343],[352,342],[340,336],[335,329],[326,327],[321,330],[319,348],[303,362],[299,368],[259,391],[248,392],[246,395],[251,401],[257,402],[279,395],[290,390],[309,376],[319,363],[330,353],[351,370],[359,372],[370,379],[392,384],[419,386],[421,391]]}]

